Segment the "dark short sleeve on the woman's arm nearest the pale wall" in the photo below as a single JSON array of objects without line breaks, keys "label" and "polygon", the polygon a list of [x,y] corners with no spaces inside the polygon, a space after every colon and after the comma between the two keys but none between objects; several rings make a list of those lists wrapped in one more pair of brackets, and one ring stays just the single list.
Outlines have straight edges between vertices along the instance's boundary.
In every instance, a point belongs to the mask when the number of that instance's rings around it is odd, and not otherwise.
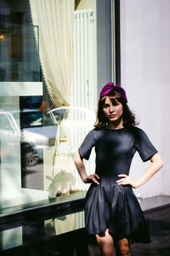
[{"label": "dark short sleeve on the woman's arm nearest the pale wall", "polygon": [[134,147],[139,152],[141,159],[145,162],[157,153],[156,148],[150,143],[150,139],[145,132],[136,127]]}]

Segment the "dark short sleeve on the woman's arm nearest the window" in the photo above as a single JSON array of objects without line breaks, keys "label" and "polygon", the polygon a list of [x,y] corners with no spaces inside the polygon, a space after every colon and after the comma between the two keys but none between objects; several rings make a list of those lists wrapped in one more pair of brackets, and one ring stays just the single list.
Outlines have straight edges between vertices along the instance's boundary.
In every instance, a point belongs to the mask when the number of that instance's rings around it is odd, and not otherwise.
[{"label": "dark short sleeve on the woman's arm nearest the window", "polygon": [[94,147],[94,130],[90,131],[82,142],[80,148],[78,148],[79,153],[82,158],[88,160],[91,154],[92,148]]}]

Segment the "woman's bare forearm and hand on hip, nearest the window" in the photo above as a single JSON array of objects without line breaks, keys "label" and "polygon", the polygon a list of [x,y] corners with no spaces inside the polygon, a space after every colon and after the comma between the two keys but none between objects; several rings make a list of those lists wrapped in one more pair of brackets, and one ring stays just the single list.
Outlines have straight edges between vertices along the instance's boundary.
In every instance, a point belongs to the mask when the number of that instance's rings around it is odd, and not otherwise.
[{"label": "woman's bare forearm and hand on hip, nearest the window", "polygon": [[99,179],[99,176],[97,174],[91,174],[88,176],[85,166],[84,166],[84,163],[83,163],[83,160],[82,160],[82,157],[79,154],[79,152],[77,152],[77,154],[75,155],[74,162],[75,162],[75,165],[77,166],[77,171],[78,171],[80,177],[82,178],[83,183],[93,183],[94,182],[97,185],[99,185],[99,182],[96,179],[96,178]]}]

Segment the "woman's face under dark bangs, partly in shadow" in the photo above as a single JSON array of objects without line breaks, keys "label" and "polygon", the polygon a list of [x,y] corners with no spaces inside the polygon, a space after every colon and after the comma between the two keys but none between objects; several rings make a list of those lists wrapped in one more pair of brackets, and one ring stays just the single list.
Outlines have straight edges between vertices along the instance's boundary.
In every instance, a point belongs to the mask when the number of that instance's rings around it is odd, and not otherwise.
[{"label": "woman's face under dark bangs, partly in shadow", "polygon": [[110,122],[114,122],[114,121],[117,121],[118,119],[122,119],[122,103],[117,102],[116,100],[115,100],[115,103],[112,103],[110,97],[107,96],[105,98],[103,112],[105,113],[105,117]]}]

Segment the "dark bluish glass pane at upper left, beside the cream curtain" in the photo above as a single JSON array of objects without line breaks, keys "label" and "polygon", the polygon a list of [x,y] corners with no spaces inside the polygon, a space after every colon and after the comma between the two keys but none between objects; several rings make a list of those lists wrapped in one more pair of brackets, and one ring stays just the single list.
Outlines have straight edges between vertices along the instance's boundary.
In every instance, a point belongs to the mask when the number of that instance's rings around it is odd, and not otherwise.
[{"label": "dark bluish glass pane at upper left, beside the cream curtain", "polygon": [[38,26],[0,23],[0,81],[40,81]]}]

